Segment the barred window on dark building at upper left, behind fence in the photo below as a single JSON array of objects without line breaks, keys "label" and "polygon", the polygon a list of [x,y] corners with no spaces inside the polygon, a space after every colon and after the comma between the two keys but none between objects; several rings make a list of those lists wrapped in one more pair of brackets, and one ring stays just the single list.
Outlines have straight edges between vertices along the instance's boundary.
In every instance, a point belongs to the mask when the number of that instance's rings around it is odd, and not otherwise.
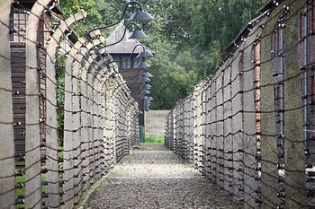
[{"label": "barred window on dark building at upper left, behind fence", "polygon": [[11,37],[10,40],[13,42],[25,42],[26,35],[26,22],[28,14],[25,11],[20,11],[15,8],[12,9],[11,13]]}]

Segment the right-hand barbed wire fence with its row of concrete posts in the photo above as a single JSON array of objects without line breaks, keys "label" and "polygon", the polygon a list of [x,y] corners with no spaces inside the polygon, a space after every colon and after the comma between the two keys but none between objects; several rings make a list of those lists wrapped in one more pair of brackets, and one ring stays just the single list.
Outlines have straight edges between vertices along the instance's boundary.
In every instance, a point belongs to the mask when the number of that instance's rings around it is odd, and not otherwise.
[{"label": "right-hand barbed wire fence with its row of concrete posts", "polygon": [[314,1],[275,1],[166,116],[166,146],[244,208],[314,208]]}]

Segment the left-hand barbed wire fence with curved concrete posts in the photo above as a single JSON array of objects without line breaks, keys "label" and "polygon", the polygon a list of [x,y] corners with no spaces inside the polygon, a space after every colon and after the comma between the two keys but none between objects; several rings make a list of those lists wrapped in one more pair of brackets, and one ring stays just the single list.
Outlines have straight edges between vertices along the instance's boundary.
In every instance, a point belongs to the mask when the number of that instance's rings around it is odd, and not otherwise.
[{"label": "left-hand barbed wire fence with curved concrete posts", "polygon": [[[63,19],[53,7],[0,1],[0,208],[73,208],[139,140],[138,104],[112,57],[95,51],[101,32],[68,44],[87,13]],[[27,16],[23,30],[10,24],[14,10]]]}]

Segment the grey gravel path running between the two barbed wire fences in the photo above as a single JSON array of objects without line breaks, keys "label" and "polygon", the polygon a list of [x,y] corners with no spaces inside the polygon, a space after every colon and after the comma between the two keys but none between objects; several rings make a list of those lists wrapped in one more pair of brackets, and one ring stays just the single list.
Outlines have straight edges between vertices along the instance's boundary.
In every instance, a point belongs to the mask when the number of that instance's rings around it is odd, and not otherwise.
[{"label": "grey gravel path running between the two barbed wire fences", "polygon": [[164,145],[141,145],[107,175],[91,208],[233,208],[217,187]]}]

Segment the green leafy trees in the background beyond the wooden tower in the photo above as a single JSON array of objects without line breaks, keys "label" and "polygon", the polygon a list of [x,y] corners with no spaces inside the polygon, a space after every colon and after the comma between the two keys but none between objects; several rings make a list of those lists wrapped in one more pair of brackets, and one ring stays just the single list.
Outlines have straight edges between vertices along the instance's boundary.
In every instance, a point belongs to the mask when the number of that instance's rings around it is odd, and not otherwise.
[{"label": "green leafy trees in the background beyond the wooden tower", "polygon": [[[126,0],[60,1],[67,13],[84,8],[85,23],[77,24],[78,34],[119,20]],[[151,109],[172,109],[202,78],[214,72],[225,57],[223,48],[259,13],[266,0],[140,0],[156,18],[140,23],[148,34],[142,42],[155,52],[149,59]],[[125,20],[134,12],[130,6]],[[112,29],[111,29],[112,30]],[[103,31],[108,36],[111,30]]]}]

